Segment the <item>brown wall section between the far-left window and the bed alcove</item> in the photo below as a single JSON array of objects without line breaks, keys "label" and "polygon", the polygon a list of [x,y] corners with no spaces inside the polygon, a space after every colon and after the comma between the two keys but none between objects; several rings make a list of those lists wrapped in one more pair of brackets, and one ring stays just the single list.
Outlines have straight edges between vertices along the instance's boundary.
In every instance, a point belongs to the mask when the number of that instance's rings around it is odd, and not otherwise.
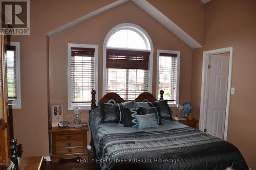
[{"label": "brown wall section between the far-left window and the bed alcove", "polygon": [[22,109],[10,113],[13,136],[22,144],[22,156],[49,156],[47,33],[113,0],[59,2],[30,1],[30,36],[11,36],[11,41],[20,42]]}]

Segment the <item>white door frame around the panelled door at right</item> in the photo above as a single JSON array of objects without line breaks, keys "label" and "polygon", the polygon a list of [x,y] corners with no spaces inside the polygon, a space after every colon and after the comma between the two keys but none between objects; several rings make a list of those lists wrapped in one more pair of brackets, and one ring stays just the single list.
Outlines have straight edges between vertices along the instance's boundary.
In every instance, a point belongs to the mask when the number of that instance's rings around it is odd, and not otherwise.
[{"label": "white door frame around the panelled door at right", "polygon": [[210,71],[208,69],[208,65],[210,64],[210,55],[222,54],[222,53],[229,53],[227,103],[226,103],[226,116],[225,116],[225,128],[224,128],[224,140],[227,140],[231,78],[232,78],[232,57],[233,57],[233,47],[232,46],[203,52],[199,130],[204,131],[204,129],[206,127],[206,116],[207,116],[206,113],[207,113],[207,103],[208,103],[208,94],[209,94],[208,93],[209,92],[209,78],[210,78],[210,75],[209,75]]}]

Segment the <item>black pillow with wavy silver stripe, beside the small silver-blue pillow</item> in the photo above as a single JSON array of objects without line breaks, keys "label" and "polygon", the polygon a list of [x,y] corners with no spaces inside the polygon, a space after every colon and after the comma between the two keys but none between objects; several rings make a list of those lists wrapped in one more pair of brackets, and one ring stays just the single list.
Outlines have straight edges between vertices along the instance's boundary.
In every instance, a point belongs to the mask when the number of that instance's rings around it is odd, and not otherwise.
[{"label": "black pillow with wavy silver stripe, beside the small silver-blue pillow", "polygon": [[139,109],[130,109],[123,107],[124,127],[135,127],[138,126],[135,115],[140,113]]}]

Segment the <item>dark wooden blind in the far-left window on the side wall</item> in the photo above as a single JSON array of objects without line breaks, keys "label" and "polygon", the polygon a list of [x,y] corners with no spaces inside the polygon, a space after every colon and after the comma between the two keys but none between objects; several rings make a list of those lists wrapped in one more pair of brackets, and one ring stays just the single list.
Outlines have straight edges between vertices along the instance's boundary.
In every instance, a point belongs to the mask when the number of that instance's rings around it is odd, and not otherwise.
[{"label": "dark wooden blind in the far-left window on the side wall", "polygon": [[16,47],[7,45],[7,91],[8,99],[17,99],[17,83],[16,83]]}]

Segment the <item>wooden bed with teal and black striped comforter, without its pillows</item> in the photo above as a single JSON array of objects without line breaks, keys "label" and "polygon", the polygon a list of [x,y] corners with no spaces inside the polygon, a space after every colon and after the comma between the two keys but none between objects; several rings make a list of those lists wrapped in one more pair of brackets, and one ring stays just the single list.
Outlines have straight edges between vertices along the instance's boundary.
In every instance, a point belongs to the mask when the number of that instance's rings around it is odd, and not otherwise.
[{"label": "wooden bed with teal and black striped comforter, without its pillows", "polygon": [[[248,169],[233,144],[177,121],[162,120],[159,128],[140,130],[120,123],[100,123],[95,94],[93,90],[89,125],[98,169]],[[157,100],[145,92],[135,101]],[[99,102],[125,101],[116,93],[107,93]]]}]

